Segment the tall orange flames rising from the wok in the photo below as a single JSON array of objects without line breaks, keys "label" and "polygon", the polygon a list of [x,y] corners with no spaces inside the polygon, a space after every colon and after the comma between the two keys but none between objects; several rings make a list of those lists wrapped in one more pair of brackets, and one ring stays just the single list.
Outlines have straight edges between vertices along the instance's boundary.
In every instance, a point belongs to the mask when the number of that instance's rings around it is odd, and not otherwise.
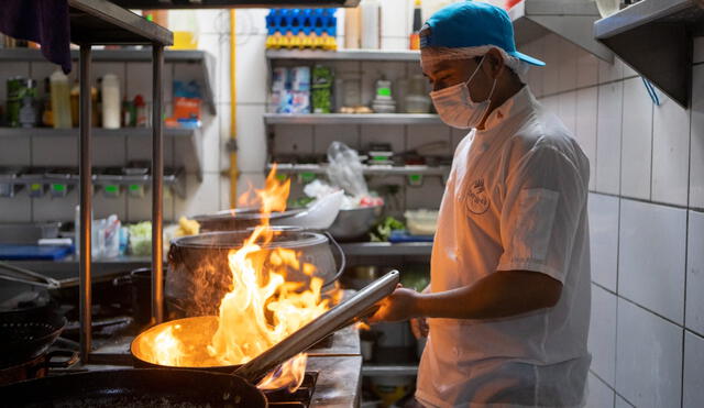
[{"label": "tall orange flames rising from the wok", "polygon": [[[187,344],[184,340],[207,334],[184,335],[179,331],[186,329],[168,326],[150,339],[152,362],[169,366],[244,364],[331,307],[330,300],[322,299],[323,282],[314,276],[314,265],[301,263],[293,250],[267,247],[276,232],[270,229],[266,216],[286,209],[289,188],[290,180],[279,181],[274,167],[265,188],[248,194],[265,217],[242,247],[228,255],[232,289],[220,302],[217,329],[205,345],[207,354],[202,346]],[[287,282],[290,269],[302,271],[309,282]],[[196,357],[198,353],[200,356]],[[306,359],[305,353],[297,355],[257,386],[262,389],[297,389],[304,379]]]}]

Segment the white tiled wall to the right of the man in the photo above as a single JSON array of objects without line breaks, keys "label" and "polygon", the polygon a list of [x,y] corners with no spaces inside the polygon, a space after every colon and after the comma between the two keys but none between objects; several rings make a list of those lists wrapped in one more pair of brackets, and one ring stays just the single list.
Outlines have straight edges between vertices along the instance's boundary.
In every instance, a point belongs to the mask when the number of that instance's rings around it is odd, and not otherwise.
[{"label": "white tiled wall to the right of the man", "polygon": [[689,110],[549,35],[529,84],[591,162],[590,407],[704,404],[704,41]]}]

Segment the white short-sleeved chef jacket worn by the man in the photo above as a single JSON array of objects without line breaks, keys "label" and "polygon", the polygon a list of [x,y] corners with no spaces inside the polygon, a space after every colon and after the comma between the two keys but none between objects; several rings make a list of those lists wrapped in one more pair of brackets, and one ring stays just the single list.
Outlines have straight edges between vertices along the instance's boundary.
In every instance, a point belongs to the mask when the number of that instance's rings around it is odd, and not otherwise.
[{"label": "white short-sleeved chef jacket worn by the man", "polygon": [[429,407],[582,406],[591,356],[588,161],[524,87],[459,144],[432,247],[431,291],[501,271],[562,283],[553,308],[429,319],[416,398]]}]

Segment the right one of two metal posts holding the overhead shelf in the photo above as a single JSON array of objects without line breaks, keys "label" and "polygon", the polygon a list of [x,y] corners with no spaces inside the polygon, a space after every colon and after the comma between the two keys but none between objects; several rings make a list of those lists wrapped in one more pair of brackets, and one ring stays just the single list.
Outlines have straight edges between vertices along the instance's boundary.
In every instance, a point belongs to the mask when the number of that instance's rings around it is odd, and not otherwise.
[{"label": "right one of two metal posts holding the overhead shelf", "polygon": [[164,46],[152,46],[152,323],[164,321],[164,134],[162,131]]}]

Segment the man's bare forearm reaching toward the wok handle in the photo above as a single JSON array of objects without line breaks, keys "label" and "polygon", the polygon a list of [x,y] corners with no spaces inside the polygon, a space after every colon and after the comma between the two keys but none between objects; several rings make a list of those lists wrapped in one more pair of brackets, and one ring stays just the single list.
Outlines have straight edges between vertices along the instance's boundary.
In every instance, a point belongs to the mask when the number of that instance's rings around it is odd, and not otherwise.
[{"label": "man's bare forearm reaching toward the wok handle", "polygon": [[526,271],[494,273],[471,286],[419,294],[411,313],[429,318],[497,319],[549,308],[560,299],[562,284]]}]

